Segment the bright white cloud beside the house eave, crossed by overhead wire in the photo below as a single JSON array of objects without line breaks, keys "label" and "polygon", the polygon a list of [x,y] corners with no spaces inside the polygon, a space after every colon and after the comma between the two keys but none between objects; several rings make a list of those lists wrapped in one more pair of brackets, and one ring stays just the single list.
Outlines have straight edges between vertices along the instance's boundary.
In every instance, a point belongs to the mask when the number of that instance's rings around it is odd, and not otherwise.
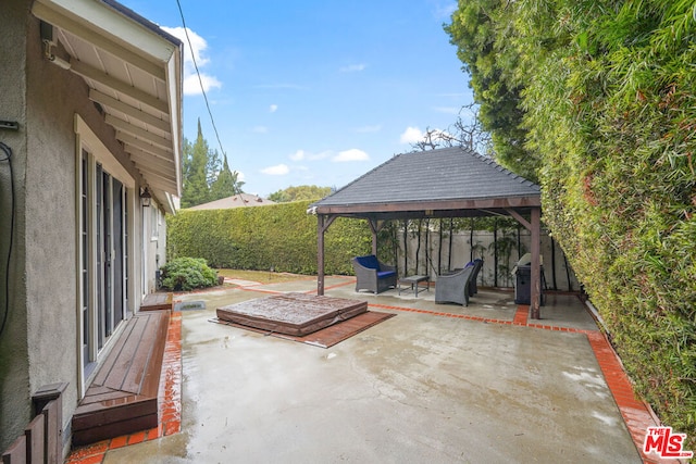
[{"label": "bright white cloud beside the house eave, crossed by overhead wire", "polygon": [[[170,33],[184,45],[184,93],[185,95],[200,95],[202,91],[209,91],[212,88],[222,87],[222,83],[217,80],[215,76],[208,75],[203,72],[200,73],[200,80],[196,74],[196,66],[194,64],[194,58],[196,64],[200,71],[210,60],[206,58],[203,52],[208,48],[208,42],[201,36],[196,34],[188,27],[162,27],[165,32]],[[188,37],[186,35],[188,32]],[[189,47],[190,40],[190,47]],[[202,83],[202,90],[201,90]]]}]

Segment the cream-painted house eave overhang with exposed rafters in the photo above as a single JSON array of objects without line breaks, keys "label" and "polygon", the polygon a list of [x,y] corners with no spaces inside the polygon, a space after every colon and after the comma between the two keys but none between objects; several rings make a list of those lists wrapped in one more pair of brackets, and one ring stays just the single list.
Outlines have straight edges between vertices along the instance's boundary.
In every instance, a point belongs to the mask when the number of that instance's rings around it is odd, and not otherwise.
[{"label": "cream-painted house eave overhang with exposed rafters", "polygon": [[69,54],[64,67],[85,79],[145,184],[173,212],[182,184],[182,42],[113,0],[36,0],[32,13],[54,27]]}]

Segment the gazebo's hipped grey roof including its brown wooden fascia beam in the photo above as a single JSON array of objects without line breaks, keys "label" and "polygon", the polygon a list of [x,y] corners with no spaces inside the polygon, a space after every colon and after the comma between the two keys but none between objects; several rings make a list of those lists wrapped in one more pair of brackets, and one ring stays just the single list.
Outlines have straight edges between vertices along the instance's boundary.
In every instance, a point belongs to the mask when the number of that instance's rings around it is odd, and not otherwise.
[{"label": "gazebo's hipped grey roof including its brown wooden fascia beam", "polygon": [[[477,215],[462,210],[505,211],[540,205],[534,183],[492,159],[461,147],[397,154],[333,195],[311,205],[319,214],[383,217]],[[437,213],[439,212],[439,213]],[[418,217],[410,214],[409,217]]]}]

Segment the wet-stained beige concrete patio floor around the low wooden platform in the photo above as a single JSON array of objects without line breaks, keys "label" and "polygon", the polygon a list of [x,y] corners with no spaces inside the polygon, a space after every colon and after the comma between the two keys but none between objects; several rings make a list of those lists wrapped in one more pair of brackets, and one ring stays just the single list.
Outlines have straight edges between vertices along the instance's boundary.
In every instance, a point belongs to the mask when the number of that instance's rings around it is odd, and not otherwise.
[{"label": "wet-stained beige concrete patio floor around the low wooden platform", "polygon": [[209,322],[219,305],[315,280],[177,296],[207,308],[182,313],[182,431],[103,462],[643,462],[576,298],[554,296],[523,326],[510,292],[462,308],[346,281],[327,278],[326,294],[397,317],[330,349]]}]

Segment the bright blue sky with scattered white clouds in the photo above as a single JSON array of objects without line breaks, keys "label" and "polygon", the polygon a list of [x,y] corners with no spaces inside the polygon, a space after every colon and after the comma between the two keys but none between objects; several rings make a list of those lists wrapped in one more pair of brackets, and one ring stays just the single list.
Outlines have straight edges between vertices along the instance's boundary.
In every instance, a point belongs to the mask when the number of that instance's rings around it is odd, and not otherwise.
[{"label": "bright blue sky with scattered white clouds", "polygon": [[176,0],[121,0],[184,42],[184,137],[200,120],[247,193],[344,187],[472,101],[443,29],[456,1],[179,2],[192,54]]}]

